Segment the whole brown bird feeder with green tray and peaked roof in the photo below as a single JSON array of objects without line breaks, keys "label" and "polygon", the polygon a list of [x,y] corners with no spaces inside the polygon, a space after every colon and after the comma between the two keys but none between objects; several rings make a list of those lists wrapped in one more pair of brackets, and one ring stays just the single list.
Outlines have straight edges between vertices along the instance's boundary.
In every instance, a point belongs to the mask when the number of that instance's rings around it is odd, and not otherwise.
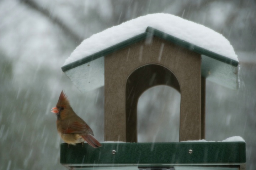
[{"label": "whole brown bird feeder with green tray and peaked roof", "polygon": [[[175,18],[168,14],[155,14],[140,17],[137,22],[156,16],[167,20]],[[158,24],[150,26],[149,23],[143,32],[133,32],[127,39],[115,36],[118,33],[114,29],[121,30],[121,35],[128,34],[126,25],[121,24],[118,28],[113,27],[94,36],[94,39],[101,39],[112,29],[114,35],[108,36],[121,39],[120,42],[99,40],[98,43],[103,43],[103,47],[86,56],[81,52],[86,46],[83,42],[73,52],[72,55],[82,57],[65,64],[62,70],[82,92],[104,86],[105,141],[116,142],[104,142],[97,149],[62,143],[60,162],[63,165],[70,169],[185,170],[198,169],[199,166],[202,169],[244,169],[245,142],[197,141],[205,138],[206,79],[232,89],[238,88],[239,62],[214,51],[218,48],[211,50],[207,45],[204,47],[202,41],[193,43],[193,40],[201,37],[177,37],[183,34],[180,28],[180,34],[169,33],[176,21],[183,22],[184,19],[176,17],[161,27]],[[132,22],[135,23],[136,19]],[[127,27],[134,23],[127,23]],[[186,23],[187,27],[195,24],[189,21]],[[170,24],[171,28],[168,28]],[[196,24],[198,26],[204,28]],[[210,46],[214,46],[214,43],[219,45],[212,41],[213,45]],[[104,43],[108,46],[104,46]],[[180,142],[137,143],[139,97],[145,90],[157,85],[173,87],[181,94]],[[181,142],[191,140],[194,142]]]}]

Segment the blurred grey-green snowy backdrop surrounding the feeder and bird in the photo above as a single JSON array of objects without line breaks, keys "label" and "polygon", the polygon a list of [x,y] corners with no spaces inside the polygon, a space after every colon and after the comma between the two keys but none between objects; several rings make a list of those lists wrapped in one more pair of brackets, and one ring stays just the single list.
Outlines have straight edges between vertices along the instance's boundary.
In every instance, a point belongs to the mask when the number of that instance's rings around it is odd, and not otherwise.
[{"label": "blurred grey-green snowy backdrop surrounding the feeder and bird", "polygon": [[[62,90],[104,141],[104,88],[81,94],[62,73],[65,59],[92,34],[149,13],[171,13],[223,34],[240,62],[240,89],[207,81],[206,140],[241,136],[247,170],[256,169],[255,0],[1,0],[0,170],[65,169],[56,116]],[[177,142],[180,94],[153,87],[139,99],[139,142]]]}]

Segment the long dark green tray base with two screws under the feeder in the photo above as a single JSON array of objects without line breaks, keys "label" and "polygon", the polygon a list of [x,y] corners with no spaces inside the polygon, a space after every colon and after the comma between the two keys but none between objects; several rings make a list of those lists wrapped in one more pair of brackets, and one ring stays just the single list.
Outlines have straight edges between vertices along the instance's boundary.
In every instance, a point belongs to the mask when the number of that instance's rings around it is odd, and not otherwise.
[{"label": "long dark green tray base with two screws under the feeder", "polygon": [[[114,150],[114,151],[113,151]],[[87,143],[60,145],[64,166],[175,166],[239,165],[246,162],[245,142]]]}]

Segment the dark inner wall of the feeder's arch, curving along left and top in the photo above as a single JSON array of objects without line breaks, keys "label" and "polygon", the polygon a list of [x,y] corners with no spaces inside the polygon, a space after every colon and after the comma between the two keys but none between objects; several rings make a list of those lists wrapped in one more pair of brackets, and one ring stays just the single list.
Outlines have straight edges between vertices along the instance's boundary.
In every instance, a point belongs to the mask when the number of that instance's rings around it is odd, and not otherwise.
[{"label": "dark inner wall of the feeder's arch, curving along left and top", "polygon": [[166,67],[146,64],[132,72],[126,82],[126,142],[137,142],[137,104],[140,95],[151,87],[166,85],[180,92],[175,75]]}]

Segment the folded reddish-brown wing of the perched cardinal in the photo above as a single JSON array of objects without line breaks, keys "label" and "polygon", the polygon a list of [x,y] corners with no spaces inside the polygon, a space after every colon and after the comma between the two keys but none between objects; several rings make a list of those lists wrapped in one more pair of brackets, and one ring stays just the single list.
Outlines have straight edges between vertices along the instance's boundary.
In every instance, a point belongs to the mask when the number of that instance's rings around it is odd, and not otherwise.
[{"label": "folded reddish-brown wing of the perched cardinal", "polygon": [[66,128],[62,129],[62,133],[64,134],[73,134],[73,133],[88,133],[93,135],[93,132],[86,123],[80,123],[75,121],[73,123],[68,124]]}]

